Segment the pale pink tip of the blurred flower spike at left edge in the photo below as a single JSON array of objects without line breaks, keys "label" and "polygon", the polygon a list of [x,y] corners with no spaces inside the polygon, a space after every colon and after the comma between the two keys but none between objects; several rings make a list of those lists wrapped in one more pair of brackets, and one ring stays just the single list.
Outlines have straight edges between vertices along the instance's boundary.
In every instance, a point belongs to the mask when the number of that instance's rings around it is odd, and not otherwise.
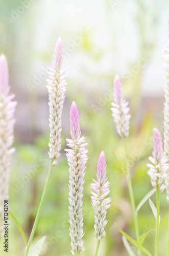
[{"label": "pale pink tip of the blurred flower spike at left edge", "polygon": [[8,94],[9,87],[9,70],[8,62],[4,54],[0,56],[0,93]]}]

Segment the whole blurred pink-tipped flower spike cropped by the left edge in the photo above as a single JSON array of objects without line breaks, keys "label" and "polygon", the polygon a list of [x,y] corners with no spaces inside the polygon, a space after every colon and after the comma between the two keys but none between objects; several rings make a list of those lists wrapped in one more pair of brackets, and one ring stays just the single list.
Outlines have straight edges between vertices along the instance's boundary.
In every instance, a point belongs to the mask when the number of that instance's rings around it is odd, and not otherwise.
[{"label": "whole blurred pink-tipped flower spike cropped by the left edge", "polygon": [[9,180],[11,172],[11,154],[14,153],[12,147],[14,139],[14,112],[16,101],[10,94],[9,72],[6,57],[0,56],[0,237],[4,237],[4,200],[9,198]]}]

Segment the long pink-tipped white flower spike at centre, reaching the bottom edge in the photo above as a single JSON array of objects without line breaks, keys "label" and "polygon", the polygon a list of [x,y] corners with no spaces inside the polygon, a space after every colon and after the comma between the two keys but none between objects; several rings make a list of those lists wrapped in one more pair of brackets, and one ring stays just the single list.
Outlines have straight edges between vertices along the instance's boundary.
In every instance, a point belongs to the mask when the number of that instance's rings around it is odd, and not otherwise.
[{"label": "long pink-tipped white flower spike at centre, reaching the bottom edge", "polygon": [[66,139],[67,146],[72,149],[66,149],[66,157],[69,165],[69,234],[71,239],[71,253],[81,255],[84,251],[82,237],[83,233],[83,215],[82,198],[84,175],[87,162],[87,150],[85,138],[80,137],[79,115],[76,103],[73,102],[70,108],[70,135],[71,139]]}]

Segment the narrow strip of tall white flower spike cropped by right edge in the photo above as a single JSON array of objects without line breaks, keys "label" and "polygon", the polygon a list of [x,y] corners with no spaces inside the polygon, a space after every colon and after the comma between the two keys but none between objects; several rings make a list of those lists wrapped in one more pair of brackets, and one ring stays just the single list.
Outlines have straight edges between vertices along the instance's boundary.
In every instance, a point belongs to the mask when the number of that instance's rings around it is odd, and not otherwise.
[{"label": "narrow strip of tall white flower spike cropped by right edge", "polygon": [[[168,19],[169,27],[169,19]],[[169,34],[168,34],[169,36]],[[164,46],[165,55],[163,56],[164,67],[164,152],[169,159],[169,45]],[[166,199],[169,203],[169,170],[165,179]]]}]

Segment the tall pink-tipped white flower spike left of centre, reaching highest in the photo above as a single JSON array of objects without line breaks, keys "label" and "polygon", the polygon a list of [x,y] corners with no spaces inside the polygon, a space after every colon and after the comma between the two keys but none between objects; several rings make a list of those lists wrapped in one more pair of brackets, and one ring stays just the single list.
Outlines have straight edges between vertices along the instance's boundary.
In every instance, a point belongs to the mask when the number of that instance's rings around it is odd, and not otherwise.
[{"label": "tall pink-tipped white flower spike left of centre, reaching highest", "polygon": [[65,70],[60,70],[62,66],[62,48],[62,39],[59,37],[55,47],[54,61],[48,72],[49,79],[47,79],[47,91],[49,93],[50,106],[49,156],[53,161],[53,166],[57,164],[57,159],[60,156],[62,131],[61,117],[67,84],[65,81]]}]

